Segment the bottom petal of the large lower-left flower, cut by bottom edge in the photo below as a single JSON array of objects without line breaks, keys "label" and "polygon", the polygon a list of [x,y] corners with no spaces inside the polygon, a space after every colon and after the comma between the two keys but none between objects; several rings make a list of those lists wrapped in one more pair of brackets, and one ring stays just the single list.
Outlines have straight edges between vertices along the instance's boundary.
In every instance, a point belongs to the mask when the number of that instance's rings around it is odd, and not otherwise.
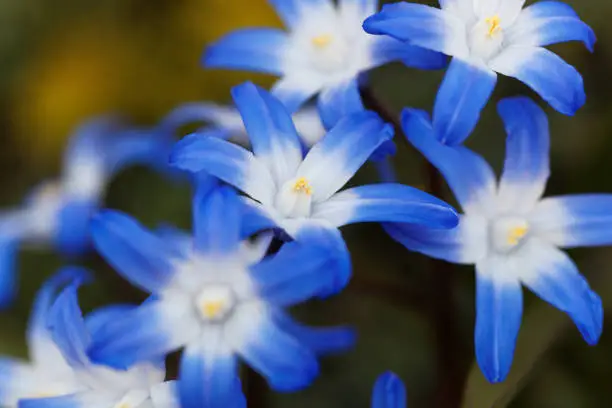
[{"label": "bottom petal of the large lower-left flower, cut by bottom edge", "polygon": [[178,391],[183,408],[230,407],[241,390],[237,361],[220,328],[208,327],[181,358]]}]

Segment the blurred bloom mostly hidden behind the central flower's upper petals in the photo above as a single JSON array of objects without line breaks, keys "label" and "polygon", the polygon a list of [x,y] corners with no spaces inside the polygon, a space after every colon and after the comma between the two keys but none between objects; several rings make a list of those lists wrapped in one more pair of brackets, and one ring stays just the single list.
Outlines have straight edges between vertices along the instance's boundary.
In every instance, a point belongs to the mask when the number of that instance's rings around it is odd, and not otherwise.
[{"label": "blurred bloom mostly hidden behind the central flower's upper petals", "polygon": [[[193,124],[204,122],[206,125],[200,132],[217,132],[217,137],[231,140],[240,144],[248,144],[247,135],[240,113],[233,106],[220,106],[213,103],[187,103],[171,111],[161,121],[162,131],[175,133],[176,129]],[[307,107],[293,114],[293,123],[300,135],[302,143],[306,147],[311,147],[317,143],[323,135],[325,129],[321,123],[319,113],[315,108]]]}]

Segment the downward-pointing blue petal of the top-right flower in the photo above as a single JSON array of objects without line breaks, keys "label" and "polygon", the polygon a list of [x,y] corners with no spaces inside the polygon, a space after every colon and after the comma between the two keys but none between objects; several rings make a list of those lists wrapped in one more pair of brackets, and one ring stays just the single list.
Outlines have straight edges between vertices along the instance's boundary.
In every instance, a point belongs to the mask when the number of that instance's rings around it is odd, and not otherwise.
[{"label": "downward-pointing blue petal of the top-right flower", "polygon": [[451,146],[463,143],[476,127],[496,82],[497,75],[485,66],[453,58],[434,106],[438,140]]}]

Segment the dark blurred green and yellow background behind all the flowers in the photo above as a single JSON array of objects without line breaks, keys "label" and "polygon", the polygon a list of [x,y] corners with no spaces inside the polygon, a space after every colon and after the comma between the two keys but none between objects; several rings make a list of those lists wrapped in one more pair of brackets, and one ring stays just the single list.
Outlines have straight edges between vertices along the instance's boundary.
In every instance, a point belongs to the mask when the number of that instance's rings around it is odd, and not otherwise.
[{"label": "dark blurred green and yellow background behind all the flowers", "polygon": [[[548,194],[612,193],[612,26],[607,20],[612,3],[567,2],[599,41],[592,55],[577,43],[554,47],[583,74],[588,98],[574,118],[546,106],[553,148]],[[92,115],[119,112],[136,124],[154,125],[184,102],[228,102],[231,86],[244,80],[269,86],[274,78],[199,65],[204,46],[222,34],[269,25],[280,22],[265,0],[0,1],[0,204],[18,205],[34,184],[57,176],[71,130]],[[390,65],[373,72],[371,84],[378,98],[399,113],[403,106],[430,110],[441,78],[442,72]],[[534,96],[517,81],[501,78],[492,101],[517,94]],[[499,170],[504,137],[491,103],[468,145]],[[426,188],[423,160],[401,140],[398,144],[394,165],[400,180]],[[375,179],[375,170],[366,167],[353,182]],[[145,169],[115,178],[106,205],[150,226],[190,227],[189,186]],[[472,408],[581,408],[612,400],[609,319],[600,345],[591,348],[569,318],[526,294],[512,374],[506,383],[491,386],[473,365],[473,269],[408,253],[377,225],[343,231],[354,280],[336,298],[311,302],[295,313],[313,324],[354,325],[356,348],[324,359],[320,378],[296,394],[271,393],[248,374],[251,407],[366,407],[376,376],[388,369],[406,382],[410,407],[457,407],[462,398],[463,406]],[[612,249],[571,255],[604,306],[612,307]],[[96,272],[96,284],[82,291],[86,309],[143,299],[95,255],[64,259],[24,248],[19,297],[0,314],[0,353],[26,355],[24,330],[34,293],[68,263]]]}]

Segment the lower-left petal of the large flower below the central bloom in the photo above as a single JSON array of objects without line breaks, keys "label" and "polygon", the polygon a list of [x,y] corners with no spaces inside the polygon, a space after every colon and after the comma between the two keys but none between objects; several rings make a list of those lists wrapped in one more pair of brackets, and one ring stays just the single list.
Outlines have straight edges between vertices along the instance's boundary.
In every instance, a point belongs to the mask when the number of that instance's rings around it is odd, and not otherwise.
[{"label": "lower-left petal of the large flower below the central bloom", "polygon": [[95,331],[88,354],[92,361],[125,370],[155,362],[194,339],[200,325],[189,299],[150,300],[121,319]]}]

